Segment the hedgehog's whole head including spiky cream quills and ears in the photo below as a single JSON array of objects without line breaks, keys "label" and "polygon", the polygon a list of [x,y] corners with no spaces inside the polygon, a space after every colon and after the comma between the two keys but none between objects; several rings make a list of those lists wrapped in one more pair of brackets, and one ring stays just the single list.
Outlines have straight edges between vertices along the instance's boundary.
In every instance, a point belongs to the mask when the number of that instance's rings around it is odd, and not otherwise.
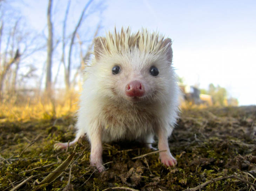
[{"label": "hedgehog's whole head including spiky cream quills and ears", "polygon": [[94,55],[102,91],[115,99],[161,101],[174,80],[171,39],[146,29],[97,37]]}]

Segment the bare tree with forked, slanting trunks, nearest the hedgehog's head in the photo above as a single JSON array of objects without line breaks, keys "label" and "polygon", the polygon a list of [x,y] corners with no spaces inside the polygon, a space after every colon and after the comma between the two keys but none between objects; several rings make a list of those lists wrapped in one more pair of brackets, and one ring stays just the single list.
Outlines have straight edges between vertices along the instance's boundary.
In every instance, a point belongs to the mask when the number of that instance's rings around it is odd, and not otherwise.
[{"label": "bare tree with forked, slanting trunks, nearest the hedgehog's head", "polygon": [[[76,76],[78,76],[79,74],[79,70],[81,70],[81,68],[85,65],[85,63],[80,63],[76,73],[75,73],[75,77],[71,76],[71,72],[73,71],[73,63],[72,60],[77,58],[74,57],[75,54],[77,54],[78,50],[79,50],[79,45],[80,45],[80,61],[83,62],[83,53],[82,53],[82,49],[84,47],[85,44],[89,44],[87,46],[88,50],[86,52],[86,59],[87,57],[89,58],[90,56],[90,50],[92,49],[93,44],[91,44],[92,42],[92,37],[89,37],[89,40],[85,41],[85,39],[83,39],[83,41],[81,41],[79,39],[79,30],[82,27],[84,20],[87,16],[90,16],[92,14],[94,14],[95,12],[99,11],[99,13],[102,13],[103,10],[103,4],[102,2],[99,2],[99,4],[95,4],[92,5],[93,0],[88,0],[88,2],[86,3],[86,5],[83,7],[80,17],[78,18],[78,22],[74,25],[74,30],[72,30],[70,32],[70,26],[67,26],[69,24],[68,20],[69,20],[69,10],[71,7],[71,0],[67,1],[67,5],[66,5],[66,9],[65,9],[65,14],[63,14],[63,20],[62,20],[62,36],[58,37],[58,33],[54,34],[54,37],[56,39],[61,39],[61,47],[58,46],[56,51],[54,51],[54,54],[58,54],[59,51],[61,51],[61,57],[60,57],[60,61],[59,61],[59,65],[58,65],[58,69],[55,73],[55,78],[54,78],[54,85],[56,85],[57,80],[58,80],[58,75],[60,73],[60,68],[63,66],[64,69],[64,83],[65,83],[65,87],[66,87],[66,91],[68,92],[68,90],[72,87],[74,87],[75,85],[75,79]],[[91,7],[89,9],[89,7]],[[89,9],[89,10],[88,10]],[[72,10],[72,9],[71,9]],[[86,14],[87,12],[87,14]],[[60,15],[60,14],[58,14]],[[73,28],[73,27],[72,27]],[[71,29],[72,29],[71,28]],[[91,29],[86,28],[88,31],[91,31]],[[94,37],[98,34],[100,27],[98,26],[95,32]],[[59,32],[60,33],[60,32]],[[83,30],[83,36],[85,36],[84,34],[86,34],[85,30]],[[91,35],[91,33],[90,33]],[[84,38],[84,37],[82,37]],[[76,39],[78,39],[78,42],[76,41]],[[85,44],[84,44],[85,43]],[[82,67],[81,67],[82,66]],[[71,81],[71,77],[73,78],[73,80]]]}]

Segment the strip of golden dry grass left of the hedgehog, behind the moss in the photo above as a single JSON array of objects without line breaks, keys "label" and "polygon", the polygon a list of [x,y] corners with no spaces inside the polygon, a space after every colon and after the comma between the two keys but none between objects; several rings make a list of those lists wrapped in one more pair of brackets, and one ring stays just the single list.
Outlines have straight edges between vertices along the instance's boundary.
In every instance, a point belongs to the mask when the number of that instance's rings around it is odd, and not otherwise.
[{"label": "strip of golden dry grass left of the hedgehog, behind the moss", "polygon": [[[0,120],[24,122],[31,119],[60,118],[75,113],[78,109],[78,93],[60,92],[55,97],[55,99],[44,96],[8,98],[0,105]],[[20,99],[22,101],[19,101]]]}]

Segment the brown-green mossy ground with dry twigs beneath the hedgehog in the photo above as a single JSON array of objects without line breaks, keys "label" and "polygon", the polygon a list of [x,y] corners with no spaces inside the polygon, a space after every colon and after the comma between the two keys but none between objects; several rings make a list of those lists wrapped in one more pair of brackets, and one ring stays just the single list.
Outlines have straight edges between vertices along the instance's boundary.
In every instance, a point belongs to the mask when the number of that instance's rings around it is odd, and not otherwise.
[{"label": "brown-green mossy ground with dry twigs beneath the hedgehog", "polygon": [[54,150],[74,138],[74,124],[71,114],[0,116],[0,190],[256,190],[256,106],[183,110],[169,139],[171,168],[137,142],[117,142],[103,145],[107,170],[99,173],[86,138]]}]

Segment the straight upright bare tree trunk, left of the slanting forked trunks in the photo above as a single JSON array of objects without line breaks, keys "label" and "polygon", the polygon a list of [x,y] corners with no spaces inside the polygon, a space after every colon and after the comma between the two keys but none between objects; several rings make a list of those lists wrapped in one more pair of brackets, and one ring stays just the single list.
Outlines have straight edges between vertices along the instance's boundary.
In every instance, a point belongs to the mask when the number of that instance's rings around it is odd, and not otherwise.
[{"label": "straight upright bare tree trunk, left of the slanting forked trunks", "polygon": [[46,91],[49,92],[52,84],[52,54],[53,54],[53,24],[52,24],[52,0],[48,1],[47,8],[47,26],[48,26],[48,38],[47,38],[47,69],[46,69]]}]

